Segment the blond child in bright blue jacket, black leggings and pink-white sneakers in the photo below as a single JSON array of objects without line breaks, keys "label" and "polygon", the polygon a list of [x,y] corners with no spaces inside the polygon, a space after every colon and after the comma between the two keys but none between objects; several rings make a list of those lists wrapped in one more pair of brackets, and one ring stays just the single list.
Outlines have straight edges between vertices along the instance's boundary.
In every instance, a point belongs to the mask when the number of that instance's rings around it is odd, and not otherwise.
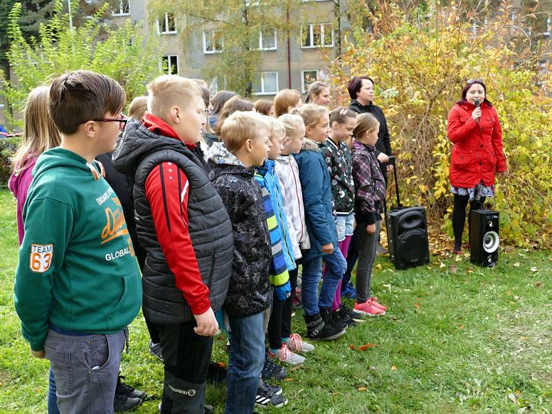
[{"label": "blond child in bright blue jacket, black leggings and pink-white sneakers", "polygon": [[[277,175],[275,173],[275,160],[279,157],[280,151],[284,149],[284,141],[286,139],[286,128],[281,121],[277,119],[268,119],[271,124],[270,142],[272,147],[268,153],[268,159],[265,161],[264,166],[256,168],[257,174],[255,178],[259,181],[262,188],[266,188],[270,194],[270,202],[273,210],[275,211],[277,230],[282,238],[281,252],[285,259],[285,264],[288,272],[295,273],[297,277],[297,264],[295,264],[295,253],[293,252],[293,242],[291,242],[290,232],[287,223],[287,217],[284,210],[284,201],[282,200],[282,190],[280,189]],[[266,211],[266,208],[265,208]],[[273,233],[270,233],[270,237],[273,238]],[[273,242],[273,253],[275,251],[275,241]],[[295,242],[297,244],[297,242]],[[273,284],[276,286],[276,284]],[[288,293],[291,292],[288,282]],[[286,336],[282,337],[282,330],[287,331],[291,325],[291,313],[287,311],[284,313],[284,306],[290,309],[291,299],[290,295],[278,295],[277,288],[275,288],[275,297],[273,302],[273,309],[268,322],[268,343],[270,348],[268,349],[268,357],[271,359],[277,359],[286,364],[302,364],[305,358],[302,355],[293,353],[287,346],[287,342],[290,342],[290,333],[285,332]],[[284,317],[286,318],[284,320]],[[296,338],[298,335],[295,335]],[[300,341],[300,339],[296,339]],[[303,349],[312,351],[313,346],[311,344],[296,344],[296,348],[303,347]],[[308,352],[307,351],[307,352]]]}]

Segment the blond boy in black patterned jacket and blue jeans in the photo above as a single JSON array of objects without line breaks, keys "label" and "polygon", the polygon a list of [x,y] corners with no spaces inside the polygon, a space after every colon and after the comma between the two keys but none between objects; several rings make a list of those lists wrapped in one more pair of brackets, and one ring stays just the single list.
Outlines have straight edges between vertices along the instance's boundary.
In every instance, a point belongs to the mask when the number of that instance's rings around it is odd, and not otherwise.
[{"label": "blond boy in black patterned jacket and blue jeans", "polygon": [[[226,413],[249,414],[255,407],[264,365],[263,313],[272,300],[270,235],[253,167],[263,165],[271,144],[268,126],[255,112],[234,112],[220,132],[224,144],[215,142],[210,148],[209,175],[228,210],[234,234],[232,274],[224,303],[231,332]],[[272,389],[266,391],[268,400],[274,398],[273,405],[287,404]]]}]

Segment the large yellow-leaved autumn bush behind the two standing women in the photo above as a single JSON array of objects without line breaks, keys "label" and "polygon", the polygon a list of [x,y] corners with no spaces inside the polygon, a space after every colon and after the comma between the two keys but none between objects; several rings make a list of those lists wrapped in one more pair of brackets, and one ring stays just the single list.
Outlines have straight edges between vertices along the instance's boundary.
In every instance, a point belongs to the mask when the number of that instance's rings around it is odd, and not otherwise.
[{"label": "large yellow-leaved autumn bush behind the two standing women", "polygon": [[501,236],[518,246],[551,246],[551,82],[538,76],[538,57],[529,46],[514,43],[507,14],[477,34],[454,8],[416,24],[398,9],[385,18],[366,14],[373,33],[357,31],[341,61],[331,62],[331,80],[346,105],[344,86],[351,75],[375,78],[376,103],[390,126],[404,204],[423,204],[444,230],[450,227],[446,119],[466,79],[481,78],[500,117],[509,164],[491,199],[500,210]]}]

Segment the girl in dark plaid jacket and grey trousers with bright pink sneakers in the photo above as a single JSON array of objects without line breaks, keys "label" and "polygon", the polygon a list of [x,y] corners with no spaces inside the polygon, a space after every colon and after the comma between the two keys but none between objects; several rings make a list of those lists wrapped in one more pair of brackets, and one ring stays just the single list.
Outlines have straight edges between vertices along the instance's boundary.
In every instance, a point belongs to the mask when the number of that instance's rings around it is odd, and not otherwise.
[{"label": "girl in dark plaid jacket and grey trousers with bright pink sneakers", "polygon": [[375,155],[380,122],[368,113],[358,115],[353,129],[353,179],[355,180],[355,235],[359,259],[356,273],[357,302],[354,311],[361,315],[384,315],[386,307],[370,297],[370,281],[377,239],[380,235],[385,181]]}]

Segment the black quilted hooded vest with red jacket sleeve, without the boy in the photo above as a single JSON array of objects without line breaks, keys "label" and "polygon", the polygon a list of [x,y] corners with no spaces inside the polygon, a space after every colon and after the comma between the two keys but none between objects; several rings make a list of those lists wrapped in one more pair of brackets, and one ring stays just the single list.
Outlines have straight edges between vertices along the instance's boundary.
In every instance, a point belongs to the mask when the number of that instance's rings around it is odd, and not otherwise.
[{"label": "black quilted hooded vest with red jacket sleeve, without the boy", "polygon": [[143,311],[155,324],[217,311],[230,282],[230,220],[197,150],[146,113],[144,124],[128,122],[113,157],[134,177],[137,235],[147,251]]}]

